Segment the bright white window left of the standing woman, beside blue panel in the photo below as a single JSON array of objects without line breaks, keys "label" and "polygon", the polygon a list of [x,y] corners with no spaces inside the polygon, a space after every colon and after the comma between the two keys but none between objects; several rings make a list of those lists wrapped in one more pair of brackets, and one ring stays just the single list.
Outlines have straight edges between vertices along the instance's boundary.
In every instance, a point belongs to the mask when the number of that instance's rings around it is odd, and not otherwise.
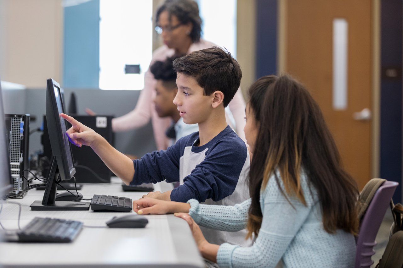
[{"label": "bright white window left of the standing woman, beside blue panel", "polygon": [[[152,2],[100,0],[100,89],[143,89],[152,58]],[[140,74],[125,74],[126,64],[139,64]]]}]

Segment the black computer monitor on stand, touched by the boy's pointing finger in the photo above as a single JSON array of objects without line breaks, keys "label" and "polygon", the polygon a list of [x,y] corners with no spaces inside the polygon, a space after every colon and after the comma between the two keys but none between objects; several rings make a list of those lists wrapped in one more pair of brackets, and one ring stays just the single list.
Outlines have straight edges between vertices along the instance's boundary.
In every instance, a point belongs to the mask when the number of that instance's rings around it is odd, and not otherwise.
[{"label": "black computer monitor on stand, touched by the boy's pointing finger", "polygon": [[32,210],[88,210],[89,203],[86,202],[55,201],[56,184],[71,179],[76,171],[66,123],[60,116],[64,113],[60,85],[53,79],[46,82],[46,124],[53,156],[44,198],[42,202],[34,201],[30,207]]}]

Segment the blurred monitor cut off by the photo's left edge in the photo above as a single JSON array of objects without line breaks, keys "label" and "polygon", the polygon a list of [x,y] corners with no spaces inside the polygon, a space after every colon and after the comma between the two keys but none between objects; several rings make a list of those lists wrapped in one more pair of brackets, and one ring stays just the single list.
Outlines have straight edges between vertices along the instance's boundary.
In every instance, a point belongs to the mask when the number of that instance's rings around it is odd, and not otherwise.
[{"label": "blurred monitor cut off by the photo's left edge", "polygon": [[4,106],[2,89],[0,84],[0,200],[3,199],[12,188],[10,163],[8,160],[8,146],[6,136],[6,121],[4,118]]}]

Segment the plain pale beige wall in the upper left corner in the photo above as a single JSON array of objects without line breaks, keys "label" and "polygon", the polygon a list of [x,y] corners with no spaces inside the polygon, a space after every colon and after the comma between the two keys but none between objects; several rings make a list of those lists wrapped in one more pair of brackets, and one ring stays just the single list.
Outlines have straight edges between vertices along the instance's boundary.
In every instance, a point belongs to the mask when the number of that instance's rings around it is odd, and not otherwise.
[{"label": "plain pale beige wall in the upper left corner", "polygon": [[0,76],[28,88],[62,82],[62,0],[0,0]]}]

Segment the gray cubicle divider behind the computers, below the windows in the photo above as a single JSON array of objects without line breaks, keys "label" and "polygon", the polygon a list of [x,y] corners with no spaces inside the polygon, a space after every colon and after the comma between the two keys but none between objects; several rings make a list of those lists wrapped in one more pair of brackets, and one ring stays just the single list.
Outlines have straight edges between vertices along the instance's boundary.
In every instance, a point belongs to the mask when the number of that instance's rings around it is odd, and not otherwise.
[{"label": "gray cubicle divider behind the computers, below the windows", "polygon": [[[133,110],[141,91],[100,90],[100,89],[64,89],[66,103],[70,101],[70,93],[77,96],[79,113],[90,108],[96,113],[120,116]],[[29,113],[36,116],[36,122],[31,123],[31,130],[42,124],[45,114],[45,89],[5,89],[4,110],[6,113]],[[30,154],[42,149],[40,134],[30,136]],[[118,132],[115,134],[115,147],[122,153],[143,156],[156,150],[151,122],[137,130]]]}]

